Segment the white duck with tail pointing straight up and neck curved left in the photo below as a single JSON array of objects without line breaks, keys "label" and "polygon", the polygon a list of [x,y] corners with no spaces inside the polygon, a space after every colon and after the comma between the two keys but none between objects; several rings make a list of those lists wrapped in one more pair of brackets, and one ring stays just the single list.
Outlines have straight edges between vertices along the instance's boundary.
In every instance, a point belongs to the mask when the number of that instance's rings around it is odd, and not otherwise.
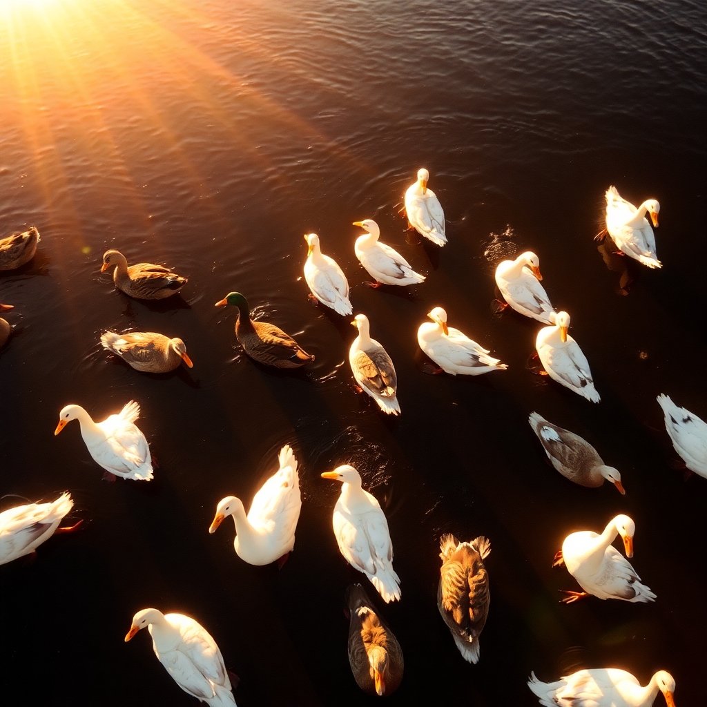
[{"label": "white duck with tail pointing straight up and neck curved left", "polygon": [[300,479],[297,460],[289,445],[279,454],[279,469],[258,489],[245,515],[243,501],[226,496],[218,502],[212,533],[228,515],[233,516],[233,547],[240,559],[252,565],[267,565],[286,558],[295,545],[295,529],[300,517]]}]

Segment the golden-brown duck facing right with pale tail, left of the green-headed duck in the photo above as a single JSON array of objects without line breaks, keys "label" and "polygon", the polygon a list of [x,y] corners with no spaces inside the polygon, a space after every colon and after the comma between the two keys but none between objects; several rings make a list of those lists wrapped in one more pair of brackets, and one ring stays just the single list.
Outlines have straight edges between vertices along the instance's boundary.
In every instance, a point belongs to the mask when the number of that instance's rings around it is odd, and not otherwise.
[{"label": "golden-brown duck facing right with pale tail, left of the green-headed duck", "polygon": [[182,361],[192,368],[182,339],[170,339],[155,332],[105,332],[100,337],[105,349],[120,356],[129,366],[143,373],[168,373]]}]

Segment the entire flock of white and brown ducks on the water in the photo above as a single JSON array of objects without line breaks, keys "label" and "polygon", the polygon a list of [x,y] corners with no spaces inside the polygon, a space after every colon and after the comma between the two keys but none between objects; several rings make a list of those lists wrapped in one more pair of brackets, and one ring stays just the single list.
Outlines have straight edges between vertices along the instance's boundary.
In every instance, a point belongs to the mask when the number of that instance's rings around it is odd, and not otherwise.
[{"label": "entire flock of white and brown ducks on the water", "polygon": [[[442,206],[427,187],[428,171],[419,170],[416,182],[407,189],[404,212],[410,228],[432,243],[447,243]],[[606,192],[606,232],[621,252],[648,267],[660,267],[655,258],[653,230],[645,219],[650,214],[658,225],[660,206],[655,199],[636,207],[621,199],[617,190]],[[370,286],[410,286],[421,284],[425,277],[411,267],[392,247],[380,242],[380,229],[371,219],[354,222],[365,233],[356,240],[356,257],[373,278]],[[599,237],[605,237],[600,234]],[[36,228],[0,240],[0,270],[21,267],[35,255],[40,234]],[[305,281],[311,297],[341,316],[353,314],[349,284],[337,262],[322,253],[315,233],[305,235],[308,245],[304,265]],[[570,317],[556,312],[540,284],[539,258],[524,252],[505,260],[496,268],[496,285],[504,302],[525,317],[532,317],[544,327],[537,334],[537,356],[547,375],[590,400],[600,402],[588,360],[580,346],[567,333]],[[117,250],[107,250],[101,271],[112,269],[116,288],[128,296],[163,299],[178,293],[187,279],[167,267],[151,263],[129,266]],[[250,358],[274,368],[299,368],[314,360],[291,336],[269,322],[253,321],[243,294],[230,292],[216,306],[233,305],[238,309],[235,336]],[[8,310],[11,305],[0,305]],[[417,332],[420,349],[438,366],[437,373],[480,375],[507,366],[491,356],[476,341],[448,325],[447,312],[435,307],[428,313],[431,322],[423,322]],[[358,332],[349,350],[349,364],[356,384],[385,414],[399,415],[395,366],[379,341],[370,335],[370,322],[358,313],[351,322]],[[0,346],[6,344],[10,327],[0,319]],[[146,373],[165,373],[182,363],[191,368],[184,341],[156,332],[105,332],[101,343],[129,366]],[[707,477],[707,424],[670,397],[660,395],[658,402],[665,413],[665,425],[674,448],[686,466]],[[144,434],[136,426],[139,404],[128,402],[117,414],[95,422],[88,411],[69,404],[59,413],[54,431],[58,435],[66,423],[77,419],[81,436],[93,460],[105,470],[104,478],[135,481],[153,478],[151,452]],[[595,448],[580,436],[551,423],[537,412],[529,418],[530,426],[542,444],[551,464],[564,477],[581,486],[595,488],[604,481],[614,484],[624,494],[621,474],[602,461]],[[252,499],[249,510],[243,501],[227,496],[216,506],[209,527],[213,533],[228,516],[235,524],[235,553],[247,563],[265,565],[282,563],[293,549],[300,515],[298,462],[290,445],[279,452],[279,465]],[[352,567],[366,575],[385,602],[401,599],[401,580],[393,568],[393,549],[387,519],[378,500],[363,489],[361,475],[349,464],[321,474],[324,479],[341,483],[341,493],[334,506],[332,526],[341,555]],[[59,527],[71,510],[69,493],[62,493],[52,503],[30,503],[0,513],[0,563],[33,553],[54,532],[74,530]],[[612,518],[603,532],[573,532],[555,556],[555,564],[564,564],[583,592],[568,591],[563,600],[572,603],[592,595],[602,600],[651,602],[655,594],[643,583],[627,558],[633,556],[635,524],[628,515]],[[626,557],[614,548],[617,535],[624,541]],[[460,542],[451,534],[440,540],[440,579],[438,609],[464,660],[479,660],[479,636],[489,612],[489,579],[484,560],[491,543],[486,537]],[[403,677],[402,650],[373,602],[360,584],[351,585],[346,595],[349,608],[349,661],[358,686],[370,694],[391,694]],[[203,626],[182,614],[163,614],[148,608],[134,615],[125,636],[129,641],[140,629],[148,628],[158,659],[175,682],[200,701],[215,706],[233,706],[232,684],[218,646]],[[543,683],[532,674],[528,686],[543,705],[575,707],[626,706],[645,707],[653,703],[660,690],[669,707],[674,706],[674,680],[660,671],[641,687],[629,673],[614,668],[580,670],[557,682]]]}]

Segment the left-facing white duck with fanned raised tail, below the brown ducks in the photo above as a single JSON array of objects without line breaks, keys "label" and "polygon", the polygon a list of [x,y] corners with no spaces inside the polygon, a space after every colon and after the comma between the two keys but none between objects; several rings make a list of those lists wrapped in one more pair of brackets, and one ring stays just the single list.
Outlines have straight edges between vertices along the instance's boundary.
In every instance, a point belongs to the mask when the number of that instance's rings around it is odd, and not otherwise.
[{"label": "left-facing white duck with fanned raised tail, below the brown ducks", "polygon": [[135,426],[140,406],[131,400],[115,415],[103,422],[94,422],[80,405],[67,405],[59,413],[59,423],[54,430],[58,435],[67,422],[78,420],[81,436],[93,460],[106,470],[106,481],[115,477],[150,481],[152,479],[152,457],[147,440]]}]

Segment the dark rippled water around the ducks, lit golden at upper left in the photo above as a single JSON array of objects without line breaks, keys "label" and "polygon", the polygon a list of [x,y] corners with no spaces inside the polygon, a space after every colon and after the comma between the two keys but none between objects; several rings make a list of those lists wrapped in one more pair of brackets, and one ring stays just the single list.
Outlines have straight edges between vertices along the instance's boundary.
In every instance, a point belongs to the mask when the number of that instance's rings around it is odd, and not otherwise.
[{"label": "dark rippled water around the ducks, lit golden at upper left", "polygon": [[[373,703],[346,658],[346,585],[363,580],[331,528],[351,462],[385,508],[402,601],[384,605],[405,655],[391,704],[537,704],[531,670],[623,667],[677,681],[704,702],[707,481],[684,478],[655,397],[707,419],[703,309],[707,9],[688,0],[46,0],[0,4],[0,230],[35,224],[32,264],[0,274],[14,334],[0,353],[2,508],[75,500],[83,530],[37,559],[0,566],[0,684],[7,703],[193,705],[154,658],[125,645],[137,609],[198,619],[240,676],[247,706]],[[416,243],[397,216],[416,170],[445,208],[448,245]],[[660,200],[663,269],[602,253],[603,194]],[[415,288],[363,286],[354,256],[375,218],[427,274]],[[552,302],[572,316],[602,402],[527,370],[537,322],[492,314],[491,233],[541,259]],[[354,330],[308,302],[302,235],[349,277],[354,312],[395,361],[402,416],[356,396]],[[103,251],[189,276],[181,298],[129,300],[100,274]],[[273,372],[235,341],[228,291],[316,355]],[[424,373],[416,329],[450,323],[508,370]],[[105,329],[185,340],[194,368],[142,375],[100,348]],[[160,467],[150,484],[101,481],[78,423],[129,399]],[[618,467],[626,496],[554,472],[530,426],[537,410]],[[303,507],[281,571],[233,552],[217,501],[246,506],[285,443]],[[18,496],[20,497],[18,499]],[[655,604],[559,604],[577,588],[554,552],[573,530],[636,520],[633,564]],[[491,612],[481,660],[462,660],[436,607],[439,538],[484,534]],[[375,595],[377,597],[377,595]],[[662,704],[658,696],[657,704]]]}]

